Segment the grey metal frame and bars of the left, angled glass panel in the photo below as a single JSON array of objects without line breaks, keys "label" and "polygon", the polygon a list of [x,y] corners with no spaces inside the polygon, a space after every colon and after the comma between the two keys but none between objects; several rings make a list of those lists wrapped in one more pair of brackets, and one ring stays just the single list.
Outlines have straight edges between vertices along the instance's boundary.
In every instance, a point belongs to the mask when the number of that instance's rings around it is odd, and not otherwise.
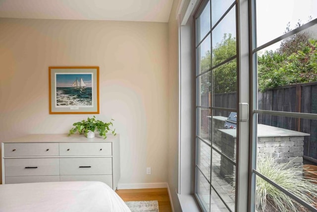
[{"label": "grey metal frame and bars of the left, angled glass panel", "polygon": [[[195,98],[195,121],[196,121],[196,124],[195,124],[195,168],[194,168],[194,172],[195,172],[195,181],[194,181],[194,187],[195,187],[195,189],[194,189],[194,196],[195,196],[195,199],[196,199],[196,201],[199,203],[199,205],[200,205],[200,207],[202,207],[203,206],[203,203],[202,203],[202,201],[200,200],[200,198],[198,197],[198,195],[196,194],[197,193],[197,183],[199,182],[197,179],[198,179],[198,171],[196,171],[197,169],[199,169],[199,167],[197,166],[197,164],[198,164],[198,160],[199,160],[199,155],[198,155],[198,153],[197,153],[197,151],[198,151],[198,144],[199,144],[199,141],[201,141],[201,142],[205,142],[202,138],[200,138],[198,135],[199,135],[199,133],[198,133],[198,125],[199,125],[199,117],[198,117],[198,110],[199,110],[199,108],[205,108],[205,109],[210,109],[210,110],[214,110],[214,109],[219,109],[219,110],[223,110],[223,111],[230,111],[230,112],[237,112],[237,116],[239,117],[239,110],[238,110],[238,106],[239,106],[239,98],[240,98],[240,95],[239,95],[239,92],[238,92],[238,88],[239,88],[239,86],[240,86],[240,83],[239,83],[239,81],[240,81],[240,63],[239,63],[239,58],[240,58],[240,54],[239,54],[239,52],[240,52],[240,49],[239,49],[239,44],[240,44],[240,42],[239,42],[239,37],[238,37],[238,34],[239,34],[239,23],[238,23],[238,21],[239,21],[239,9],[240,9],[240,7],[239,7],[239,5],[238,5],[238,3],[237,3],[237,1],[232,1],[232,4],[230,4],[230,6],[227,8],[227,10],[221,15],[221,17],[219,18],[219,20],[212,26],[212,20],[210,20],[210,24],[211,24],[211,27],[210,27],[210,31],[202,38],[202,40],[200,40],[200,41],[198,41],[198,37],[201,37],[200,35],[199,35],[199,32],[200,32],[200,29],[197,29],[197,25],[198,25],[198,21],[196,21],[196,20],[199,20],[199,16],[202,14],[202,12],[204,11],[204,9],[205,9],[205,7],[206,7],[206,5],[208,4],[208,2],[210,2],[211,3],[211,0],[202,0],[201,2],[200,2],[200,4],[199,4],[199,6],[197,7],[197,10],[196,10],[196,12],[195,12],[195,14],[193,15],[193,30],[194,30],[194,44],[195,44],[195,46],[194,46],[194,49],[195,49],[195,51],[194,51],[194,55],[195,55],[195,89],[196,89],[196,91],[195,91],[195,95],[196,95],[196,98]],[[235,14],[236,14],[236,16],[235,16],[235,21],[236,21],[236,55],[235,56],[232,56],[232,57],[230,57],[230,58],[228,58],[228,59],[226,59],[225,61],[222,61],[221,63],[219,63],[219,64],[217,64],[217,65],[215,65],[215,66],[213,66],[212,67],[212,65],[211,65],[211,68],[209,69],[209,70],[207,70],[207,71],[203,71],[203,72],[200,72],[199,71],[199,63],[197,63],[197,61],[199,61],[199,54],[197,54],[197,51],[196,51],[196,49],[200,46],[200,44],[202,44],[204,41],[205,41],[205,39],[207,39],[208,38],[208,36],[209,35],[212,35],[212,30],[221,22],[221,20],[225,17],[225,15],[229,12],[229,11],[231,11],[231,9],[233,8],[235,6]],[[247,7],[245,8],[245,9],[247,9]],[[211,11],[210,11],[211,12]],[[211,48],[212,48],[212,38],[211,38]],[[197,78],[199,77],[199,76],[201,76],[201,75],[203,75],[203,74],[205,74],[205,73],[207,73],[207,72],[211,72],[211,75],[212,75],[212,70],[214,70],[214,69],[216,69],[216,68],[218,68],[218,67],[220,67],[221,65],[223,65],[223,64],[226,64],[226,63],[228,63],[228,62],[230,62],[230,61],[233,61],[233,60],[236,60],[236,65],[237,65],[237,71],[236,71],[236,73],[237,73],[237,100],[236,100],[236,105],[237,105],[237,108],[236,109],[230,109],[230,108],[223,108],[223,107],[214,107],[213,106],[213,104],[211,103],[211,105],[210,106],[199,106],[199,105],[197,105],[198,104],[198,102],[199,102],[199,95],[198,95],[198,84],[197,84]],[[212,77],[212,76],[211,76]],[[247,88],[247,92],[249,92],[249,89]],[[247,122],[248,123],[248,122]],[[212,124],[211,124],[212,125]],[[237,122],[237,128],[239,129],[239,122]],[[212,128],[211,126],[209,126],[209,128]],[[238,196],[238,188],[239,187],[242,187],[242,185],[240,185],[241,183],[239,182],[239,177],[238,177],[238,175],[239,175],[239,165],[241,165],[241,166],[244,166],[244,168],[243,168],[243,170],[244,170],[244,174],[243,175],[245,175],[245,173],[247,173],[248,172],[248,165],[244,165],[244,164],[247,164],[246,163],[246,161],[248,161],[248,156],[246,157],[247,158],[247,160],[246,159],[244,159],[244,163],[243,164],[241,164],[241,162],[240,162],[240,164],[238,163],[238,161],[239,161],[239,152],[240,152],[240,150],[239,150],[239,131],[237,130],[237,141],[236,141],[236,143],[237,143],[237,152],[236,152],[236,162],[234,162],[234,165],[236,166],[236,189],[235,189],[235,196],[237,197]],[[206,143],[206,142],[205,142]],[[249,145],[249,140],[247,139],[247,147],[248,147],[248,145]],[[207,143],[206,143],[207,144]],[[209,144],[208,144],[209,145]],[[221,153],[220,151],[218,151],[217,149],[215,149],[214,147],[212,147],[212,142],[211,142],[211,145],[209,145],[210,147],[211,147],[211,149],[212,149],[212,151],[217,151],[217,153],[219,153],[219,154],[221,154],[221,155],[223,155],[224,157],[226,157],[226,155],[224,155],[223,153]],[[243,145],[243,146],[245,146],[245,145]],[[227,158],[227,157],[226,157]],[[231,160],[230,158],[227,158],[227,159],[229,159],[229,160]],[[211,164],[212,164],[212,160],[211,160]],[[201,171],[201,173],[203,173],[202,171]],[[241,174],[241,173],[240,173]],[[208,180],[207,178],[206,178],[206,176],[205,176],[205,179],[206,180]],[[211,177],[210,177],[210,179],[209,179],[209,183],[210,183],[210,188],[211,189],[213,189],[214,191],[216,191],[214,188],[213,188],[213,186],[212,186],[212,184],[211,184]],[[243,186],[244,187],[247,187],[247,185],[248,185],[248,179],[246,178],[244,181],[243,181]],[[210,191],[211,192],[211,191]],[[246,191],[244,191],[244,192],[246,192]],[[210,193],[210,195],[211,195],[211,193]],[[238,206],[238,204],[237,204],[237,200],[239,199],[239,198],[235,198],[235,211],[238,211],[238,207],[239,207],[239,210],[242,210],[242,211],[246,211],[246,209],[247,209],[247,197],[246,197],[246,195],[244,195],[245,196],[245,200],[243,200],[244,201],[244,204],[240,204],[239,206]],[[224,203],[224,201],[223,201],[223,199],[218,195],[218,197],[222,200],[222,202]],[[227,204],[226,203],[224,203],[224,205],[229,209],[229,207],[227,206]]]}]

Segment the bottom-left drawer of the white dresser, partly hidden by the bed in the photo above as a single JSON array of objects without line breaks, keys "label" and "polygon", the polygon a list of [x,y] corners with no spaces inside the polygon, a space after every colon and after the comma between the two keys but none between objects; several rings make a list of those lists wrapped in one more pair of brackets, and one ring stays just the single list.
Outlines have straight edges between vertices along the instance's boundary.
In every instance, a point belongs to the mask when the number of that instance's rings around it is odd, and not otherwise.
[{"label": "bottom-left drawer of the white dresser, partly hidden by the bed", "polygon": [[5,177],[5,184],[11,183],[37,183],[37,182],[58,182],[59,175],[53,176],[16,176]]}]

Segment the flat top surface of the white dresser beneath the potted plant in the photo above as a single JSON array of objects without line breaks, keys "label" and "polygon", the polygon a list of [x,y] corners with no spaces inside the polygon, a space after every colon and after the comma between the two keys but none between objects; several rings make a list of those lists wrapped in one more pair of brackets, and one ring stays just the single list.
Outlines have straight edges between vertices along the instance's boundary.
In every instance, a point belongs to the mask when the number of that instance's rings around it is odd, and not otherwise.
[{"label": "flat top surface of the white dresser beneath the potted plant", "polygon": [[30,134],[1,142],[112,142],[118,140],[118,138],[119,135],[113,136],[111,134],[107,134],[106,139],[101,138],[97,134],[93,139],[87,139],[83,134],[74,134],[71,136],[67,136],[67,134]]}]

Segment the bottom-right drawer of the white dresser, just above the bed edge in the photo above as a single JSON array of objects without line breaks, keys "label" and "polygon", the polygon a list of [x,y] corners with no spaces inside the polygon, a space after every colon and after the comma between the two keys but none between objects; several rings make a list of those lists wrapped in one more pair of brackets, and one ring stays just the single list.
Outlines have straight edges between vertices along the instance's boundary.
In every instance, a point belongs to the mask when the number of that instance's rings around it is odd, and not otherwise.
[{"label": "bottom-right drawer of the white dresser, just above the bed edge", "polygon": [[112,175],[61,175],[60,181],[100,181],[112,188]]}]

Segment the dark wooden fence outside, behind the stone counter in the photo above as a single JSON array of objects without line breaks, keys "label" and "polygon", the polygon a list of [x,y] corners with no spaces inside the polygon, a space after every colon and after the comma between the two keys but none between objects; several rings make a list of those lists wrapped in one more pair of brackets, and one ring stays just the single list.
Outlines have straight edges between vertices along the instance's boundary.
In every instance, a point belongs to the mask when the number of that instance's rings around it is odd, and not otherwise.
[{"label": "dark wooden fence outside, behind the stone counter", "polygon": [[[208,95],[204,96],[208,98]],[[206,101],[206,100],[205,100]],[[260,110],[317,114],[317,82],[295,84],[259,92]],[[215,94],[214,107],[237,108],[236,92]],[[230,112],[215,110],[214,116],[228,117]],[[259,124],[309,133],[305,137],[304,155],[317,160],[317,120],[259,114]]]}]

